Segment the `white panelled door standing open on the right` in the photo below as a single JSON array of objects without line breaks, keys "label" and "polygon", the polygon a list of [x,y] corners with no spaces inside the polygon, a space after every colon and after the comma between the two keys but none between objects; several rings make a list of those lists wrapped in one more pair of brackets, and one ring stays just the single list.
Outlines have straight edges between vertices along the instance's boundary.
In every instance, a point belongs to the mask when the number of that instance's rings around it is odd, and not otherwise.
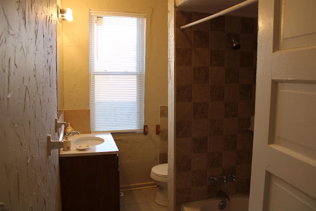
[{"label": "white panelled door standing open on the right", "polygon": [[316,0],[259,0],[249,211],[316,211]]}]

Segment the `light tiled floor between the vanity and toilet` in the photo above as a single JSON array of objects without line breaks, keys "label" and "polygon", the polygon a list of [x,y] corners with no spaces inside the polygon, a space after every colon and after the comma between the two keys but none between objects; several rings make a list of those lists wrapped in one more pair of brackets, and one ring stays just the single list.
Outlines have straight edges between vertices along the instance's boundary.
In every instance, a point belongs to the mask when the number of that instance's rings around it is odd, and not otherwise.
[{"label": "light tiled floor between the vanity and toilet", "polygon": [[157,188],[123,191],[120,196],[120,211],[167,211],[167,207],[155,202]]}]

